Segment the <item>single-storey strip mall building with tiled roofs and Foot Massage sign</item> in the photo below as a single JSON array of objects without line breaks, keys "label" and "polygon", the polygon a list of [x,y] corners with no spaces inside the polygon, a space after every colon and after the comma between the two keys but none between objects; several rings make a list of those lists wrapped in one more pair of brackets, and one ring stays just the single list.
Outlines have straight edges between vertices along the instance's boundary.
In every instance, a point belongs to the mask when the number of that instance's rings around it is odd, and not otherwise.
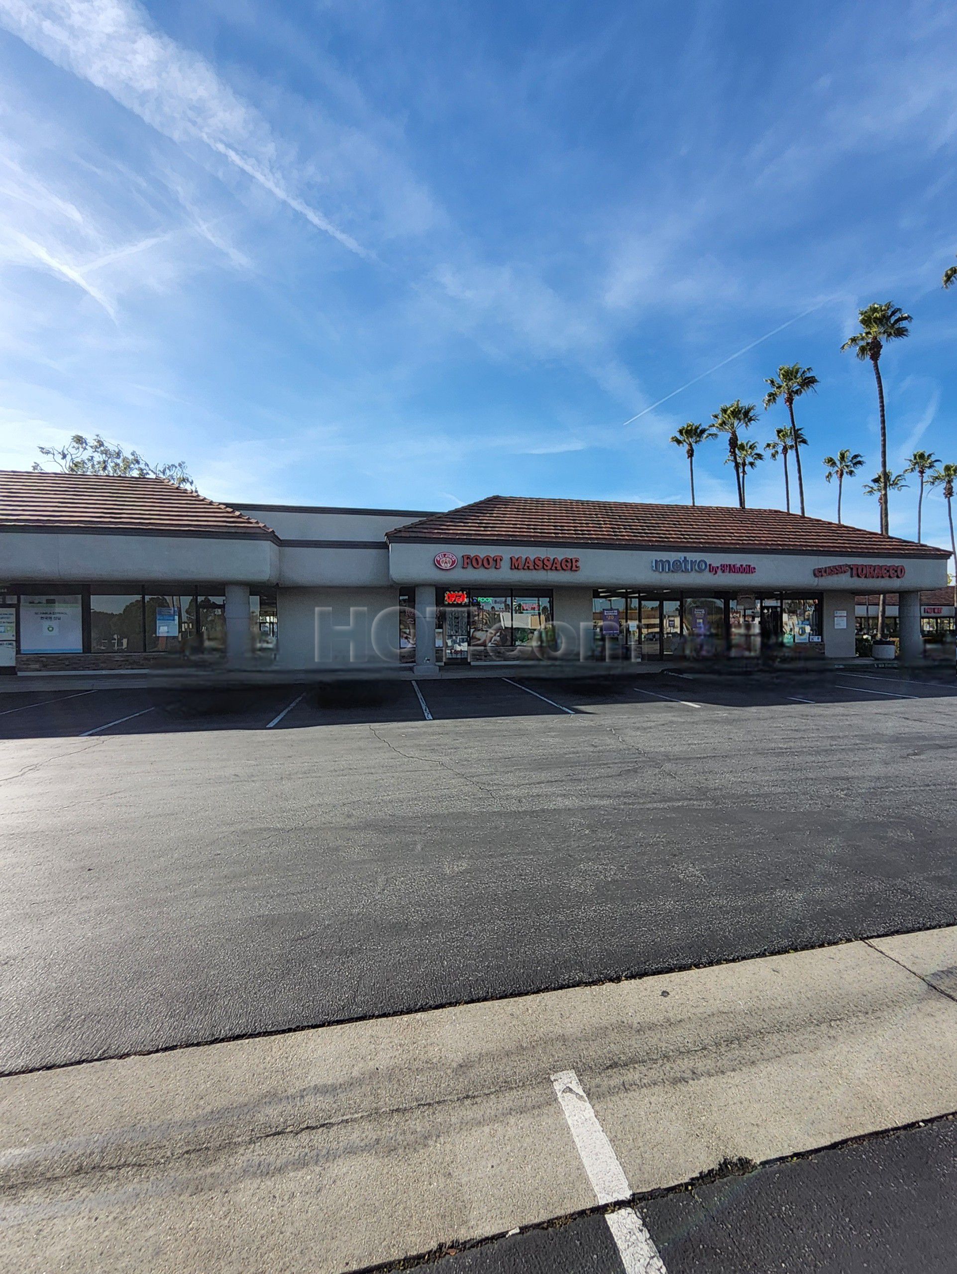
[{"label": "single-storey strip mall building with tiled roofs and Foot Massage sign", "polygon": [[856,599],[882,592],[896,595],[901,657],[917,661],[921,592],[947,585],[948,557],[777,510],[502,496],[445,513],[231,507],[155,479],[8,471],[0,664],[427,675],[846,660]]}]

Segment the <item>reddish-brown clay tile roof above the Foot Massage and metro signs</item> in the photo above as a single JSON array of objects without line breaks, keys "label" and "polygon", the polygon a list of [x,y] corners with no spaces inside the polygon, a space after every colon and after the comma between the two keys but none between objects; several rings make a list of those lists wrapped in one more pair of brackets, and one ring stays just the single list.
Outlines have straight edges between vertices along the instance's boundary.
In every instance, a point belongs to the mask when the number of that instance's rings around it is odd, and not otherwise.
[{"label": "reddish-brown clay tile roof above the Foot Massage and metro signs", "polygon": [[777,508],[627,505],[604,499],[489,496],[399,526],[396,540],[492,540],[497,544],[658,549],[752,549],[854,557],[949,557],[946,549]]}]

